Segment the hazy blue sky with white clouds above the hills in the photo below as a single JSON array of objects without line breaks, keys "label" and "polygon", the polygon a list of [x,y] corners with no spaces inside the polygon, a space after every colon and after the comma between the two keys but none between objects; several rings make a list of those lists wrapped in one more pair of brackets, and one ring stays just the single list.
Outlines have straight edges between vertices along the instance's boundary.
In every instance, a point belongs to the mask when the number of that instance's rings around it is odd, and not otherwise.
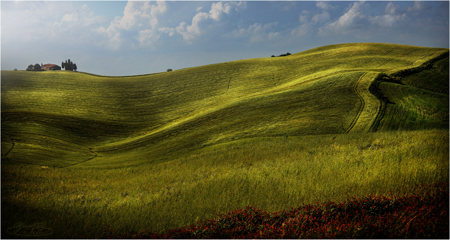
[{"label": "hazy blue sky with white clouds above the hills", "polygon": [[449,48],[449,1],[0,1],[0,68],[139,75],[341,43]]}]

